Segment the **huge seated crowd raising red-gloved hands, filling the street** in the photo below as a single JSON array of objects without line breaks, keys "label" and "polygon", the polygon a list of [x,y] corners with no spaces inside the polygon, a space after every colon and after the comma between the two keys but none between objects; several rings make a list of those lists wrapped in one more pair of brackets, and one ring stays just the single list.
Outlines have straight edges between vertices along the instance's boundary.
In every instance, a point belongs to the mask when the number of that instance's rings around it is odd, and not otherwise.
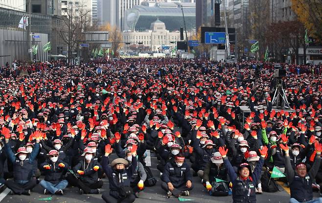
[{"label": "huge seated crowd raising red-gloved hands, filling the street", "polygon": [[291,203],[322,203],[313,200],[322,183],[322,77],[290,72],[283,80],[291,109],[273,110],[274,68],[264,64],[254,88],[254,65],[53,61],[2,75],[0,183],[12,195],[30,195],[37,184],[44,194],[63,195],[69,186],[100,194],[107,178],[103,200],[132,203],[156,183],[145,162],[150,150],[167,198],[203,184],[209,195],[255,203],[256,193],[277,191],[267,176],[277,168]]}]

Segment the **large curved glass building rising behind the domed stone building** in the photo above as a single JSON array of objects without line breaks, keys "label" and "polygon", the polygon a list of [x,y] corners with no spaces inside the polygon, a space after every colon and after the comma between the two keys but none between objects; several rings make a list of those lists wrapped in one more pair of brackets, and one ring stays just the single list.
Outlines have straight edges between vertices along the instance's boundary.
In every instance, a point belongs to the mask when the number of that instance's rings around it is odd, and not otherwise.
[{"label": "large curved glass building rising behind the domed stone building", "polygon": [[[184,27],[184,20],[187,31],[195,29],[195,3],[156,2],[154,6],[149,5],[149,2],[142,2],[141,5],[126,10],[124,30],[147,30],[150,28],[149,25],[156,21],[157,18],[165,23],[166,29],[170,32]],[[184,7],[184,20],[181,6]]]}]

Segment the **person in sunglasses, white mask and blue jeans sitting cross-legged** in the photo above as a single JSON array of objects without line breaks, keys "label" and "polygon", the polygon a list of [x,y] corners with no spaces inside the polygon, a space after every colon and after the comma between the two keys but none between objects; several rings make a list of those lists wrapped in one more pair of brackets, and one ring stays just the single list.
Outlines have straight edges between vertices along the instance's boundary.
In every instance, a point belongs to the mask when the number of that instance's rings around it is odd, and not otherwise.
[{"label": "person in sunglasses, white mask and blue jeans sitting cross-legged", "polygon": [[59,159],[57,150],[50,150],[47,156],[47,161],[41,164],[45,180],[41,180],[40,185],[45,188],[45,195],[48,193],[63,195],[63,189],[68,185],[68,181],[64,179],[68,171],[68,165]]}]

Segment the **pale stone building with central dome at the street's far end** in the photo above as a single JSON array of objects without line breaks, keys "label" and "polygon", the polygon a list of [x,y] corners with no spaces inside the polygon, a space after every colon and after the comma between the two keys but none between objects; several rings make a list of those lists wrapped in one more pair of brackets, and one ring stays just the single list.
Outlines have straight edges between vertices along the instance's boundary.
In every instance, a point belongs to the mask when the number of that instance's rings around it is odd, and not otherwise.
[{"label": "pale stone building with central dome at the street's far end", "polygon": [[[180,41],[180,32],[170,32],[166,29],[165,23],[157,19],[151,23],[150,29],[138,32],[138,31],[124,31],[122,33],[125,43],[125,50],[128,50],[131,45],[138,45],[142,43],[144,46],[150,47],[150,51],[159,51],[162,46],[173,47],[177,41]],[[188,32],[188,39],[190,39],[192,33]]]}]

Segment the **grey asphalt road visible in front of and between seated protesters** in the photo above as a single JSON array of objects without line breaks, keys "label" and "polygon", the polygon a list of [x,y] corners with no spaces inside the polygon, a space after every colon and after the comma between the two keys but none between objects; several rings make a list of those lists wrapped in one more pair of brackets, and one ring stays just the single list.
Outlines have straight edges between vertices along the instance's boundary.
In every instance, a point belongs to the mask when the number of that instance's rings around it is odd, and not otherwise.
[{"label": "grey asphalt road visible in front of and between seated protesters", "polygon": [[[111,155],[113,159],[115,155]],[[136,203],[178,203],[179,200],[175,197],[170,199],[165,198],[165,192],[161,189],[161,180],[160,172],[157,169],[158,160],[153,155],[151,156],[151,170],[154,176],[157,178],[158,182],[153,187],[145,187],[144,191],[139,194],[139,198],[136,200]],[[192,172],[192,171],[191,171]],[[41,177],[42,179],[43,177]],[[108,180],[103,179],[104,185],[101,191],[106,191],[109,188]],[[206,189],[201,184],[201,180],[198,177],[193,177],[194,189],[191,191],[189,197],[183,197],[189,199],[191,203],[232,203],[231,196],[228,197],[212,197],[209,196],[206,192]],[[8,192],[8,189],[4,190],[0,194],[1,198]],[[101,195],[80,195],[79,190],[76,187],[68,187],[64,190],[64,196],[52,196],[51,201],[39,200],[41,198],[48,198],[50,195],[43,194],[44,189],[42,186],[37,185],[31,196],[19,196],[19,195],[6,195],[1,203],[104,203],[101,198]],[[317,196],[317,193],[315,193]],[[286,191],[280,191],[276,193],[263,193],[261,195],[256,195],[258,203],[288,203],[289,194]]]}]

